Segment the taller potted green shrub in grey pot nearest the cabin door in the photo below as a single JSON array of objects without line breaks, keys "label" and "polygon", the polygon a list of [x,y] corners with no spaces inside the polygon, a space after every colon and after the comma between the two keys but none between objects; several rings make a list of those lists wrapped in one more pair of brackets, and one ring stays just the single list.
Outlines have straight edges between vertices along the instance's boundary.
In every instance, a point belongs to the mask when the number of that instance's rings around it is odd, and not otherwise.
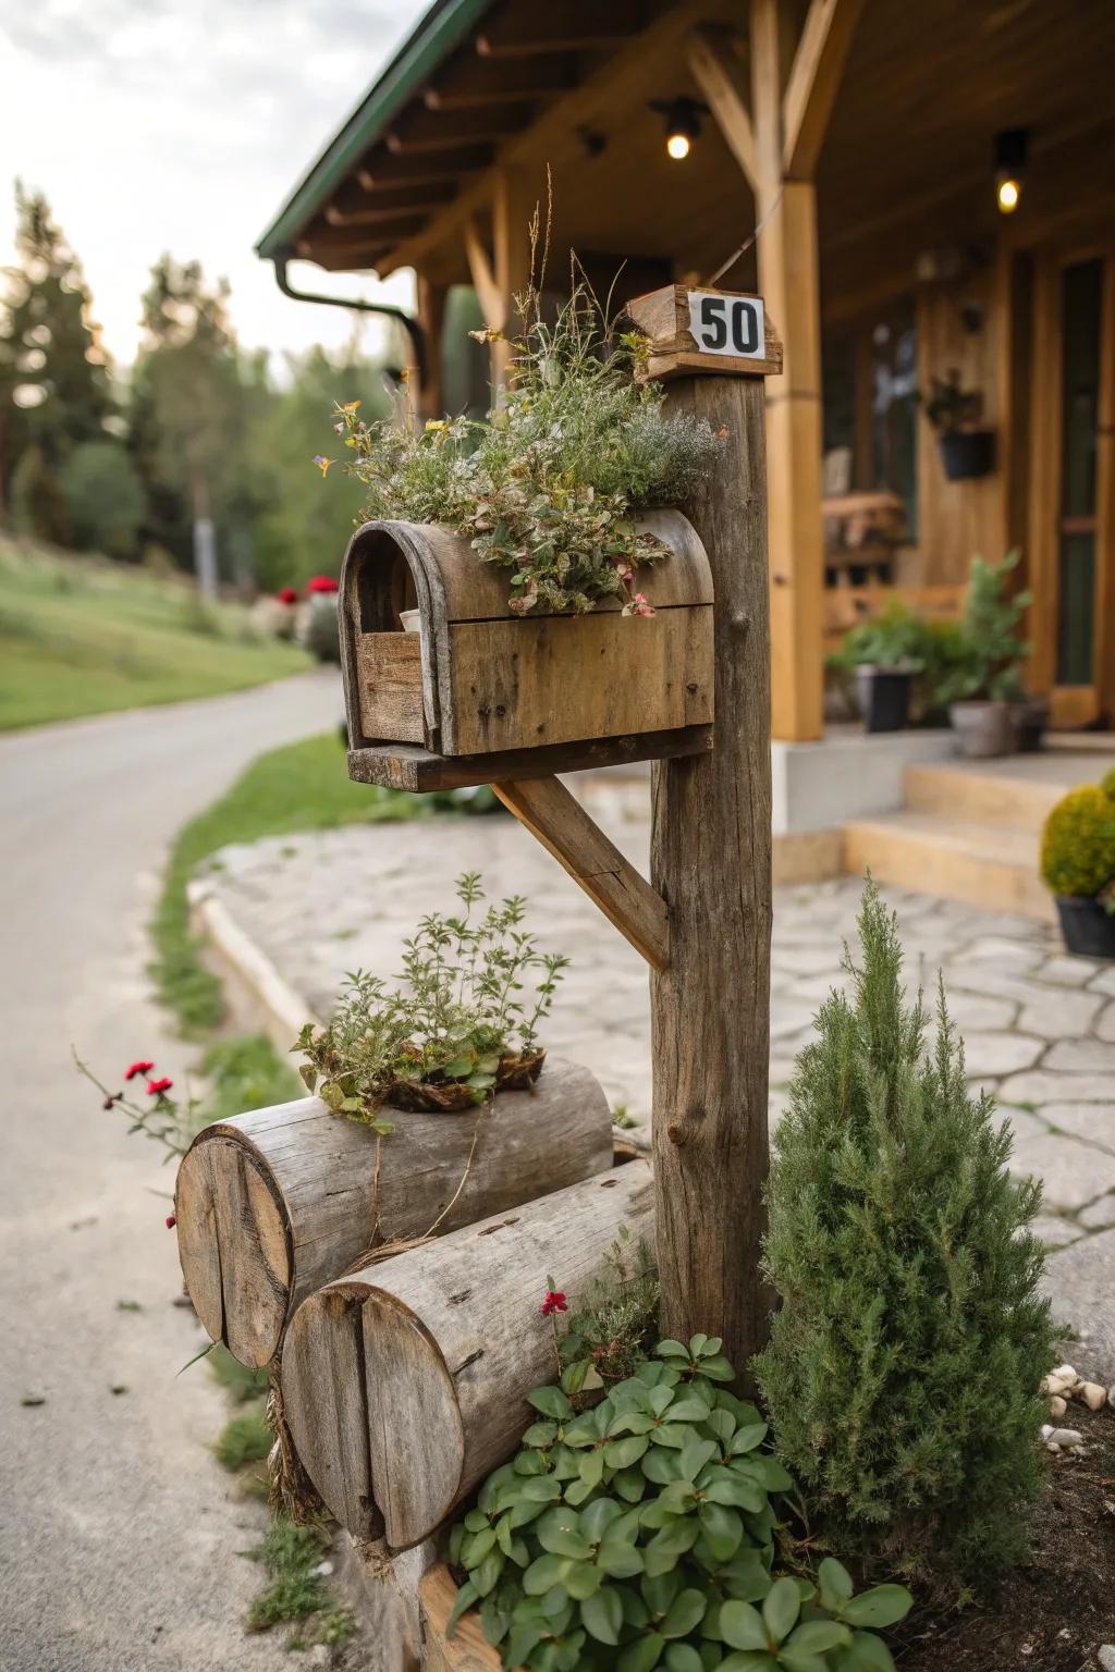
[{"label": "taller potted green shrub in grey pot nearest the cabin door", "polygon": [[1030,652],[1018,632],[1030,594],[1008,594],[1008,577],[1016,567],[1018,552],[1001,563],[971,560],[960,642],[938,687],[960,752],[973,759],[1010,754],[1015,747],[1015,706],[1025,699],[1018,664]]}]

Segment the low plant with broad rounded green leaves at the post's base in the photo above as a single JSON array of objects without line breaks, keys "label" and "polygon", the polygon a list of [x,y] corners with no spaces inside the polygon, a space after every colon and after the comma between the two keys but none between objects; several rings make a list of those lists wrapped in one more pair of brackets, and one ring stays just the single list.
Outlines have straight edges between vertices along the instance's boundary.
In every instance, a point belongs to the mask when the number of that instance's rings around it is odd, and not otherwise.
[{"label": "low plant with broad rounded green leaves at the post's base", "polygon": [[577,1411],[538,1388],[540,1415],[450,1535],[465,1572],[451,1627],[478,1607],[505,1667],[532,1672],[861,1672],[889,1669],[868,1627],[909,1592],[861,1597],[838,1562],[817,1583],[772,1573],[791,1478],[754,1404],[727,1388],[720,1341],[660,1341]]}]

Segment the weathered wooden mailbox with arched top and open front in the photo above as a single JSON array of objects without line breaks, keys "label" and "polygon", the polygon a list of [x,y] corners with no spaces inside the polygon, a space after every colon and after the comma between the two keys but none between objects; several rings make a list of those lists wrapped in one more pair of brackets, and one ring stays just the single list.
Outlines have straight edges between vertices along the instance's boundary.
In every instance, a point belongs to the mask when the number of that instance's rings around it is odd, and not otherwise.
[{"label": "weathered wooden mailbox with arched top and open front", "polygon": [[[639,572],[655,614],[624,617],[619,599],[587,615],[517,615],[508,572],[465,537],[364,523],[341,570],[353,776],[425,789],[527,776],[522,752],[537,776],[555,751],[563,771],[598,764],[610,741],[627,759],[707,747],[709,560],[680,512],[649,512],[639,527],[665,548]],[[408,610],[418,632],[403,629]],[[441,779],[431,761],[451,762]]]}]

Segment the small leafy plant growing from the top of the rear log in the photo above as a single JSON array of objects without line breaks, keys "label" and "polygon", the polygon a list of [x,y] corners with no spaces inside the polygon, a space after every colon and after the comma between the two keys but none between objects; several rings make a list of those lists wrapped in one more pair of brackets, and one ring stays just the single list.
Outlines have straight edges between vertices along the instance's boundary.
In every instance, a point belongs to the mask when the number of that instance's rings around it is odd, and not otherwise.
[{"label": "small leafy plant growing from the top of the rear log", "polygon": [[326,1027],[309,1023],[294,1047],[308,1088],[379,1132],[391,1130],[383,1104],[470,1109],[542,1070],[538,1027],[568,958],[538,951],[518,896],[473,918],[478,873],[456,879],[456,896],[461,913],[430,913],[405,941],[400,986],[349,975]]}]

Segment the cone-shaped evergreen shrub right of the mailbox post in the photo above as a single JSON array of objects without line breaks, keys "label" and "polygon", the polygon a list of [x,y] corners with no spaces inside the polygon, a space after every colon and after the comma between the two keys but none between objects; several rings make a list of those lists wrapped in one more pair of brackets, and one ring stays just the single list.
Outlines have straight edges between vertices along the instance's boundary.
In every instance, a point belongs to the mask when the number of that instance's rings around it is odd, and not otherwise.
[{"label": "cone-shaped evergreen shrub right of the mailbox post", "polygon": [[777,1129],[766,1266],[782,1306],[752,1368],[822,1542],[955,1592],[1021,1558],[1041,1481],[1040,1185],[1011,1177],[1010,1127],[968,1090],[943,986],[926,1048],[871,881],[859,943]]}]

